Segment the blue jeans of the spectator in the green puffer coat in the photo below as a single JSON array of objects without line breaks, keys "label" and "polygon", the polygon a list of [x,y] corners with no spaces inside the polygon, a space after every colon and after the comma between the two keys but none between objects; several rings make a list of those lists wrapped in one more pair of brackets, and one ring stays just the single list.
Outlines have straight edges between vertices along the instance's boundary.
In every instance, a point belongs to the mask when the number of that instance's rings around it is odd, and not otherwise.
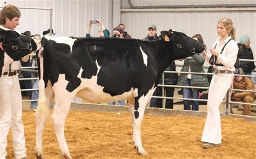
[{"label": "blue jeans of the spectator in the green puffer coat", "polygon": [[[187,78],[186,86],[191,86],[191,79]],[[192,99],[199,99],[199,89],[191,89],[191,88],[184,88],[183,89],[183,98],[192,98]],[[183,100],[184,110],[192,110],[198,111],[199,101],[194,100]]]}]

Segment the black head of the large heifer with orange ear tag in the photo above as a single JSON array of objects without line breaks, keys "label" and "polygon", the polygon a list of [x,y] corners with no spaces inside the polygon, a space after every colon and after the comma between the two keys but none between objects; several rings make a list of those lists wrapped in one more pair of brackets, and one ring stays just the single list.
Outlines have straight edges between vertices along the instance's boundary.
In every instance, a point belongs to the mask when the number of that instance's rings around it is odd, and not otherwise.
[{"label": "black head of the large heifer with orange ear tag", "polygon": [[187,37],[186,34],[181,32],[172,30],[161,31],[160,38],[170,42],[177,59],[184,59],[193,54],[201,53],[205,49],[205,44]]}]

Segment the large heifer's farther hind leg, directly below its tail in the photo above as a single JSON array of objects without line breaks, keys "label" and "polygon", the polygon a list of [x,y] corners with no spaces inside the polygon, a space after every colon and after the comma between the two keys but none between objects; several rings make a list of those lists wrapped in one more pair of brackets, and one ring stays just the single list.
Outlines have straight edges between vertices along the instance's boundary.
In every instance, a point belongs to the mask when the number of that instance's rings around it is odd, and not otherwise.
[{"label": "large heifer's farther hind leg, directly below its tail", "polygon": [[44,87],[43,81],[39,81],[39,91],[45,92],[40,94],[39,92],[39,101],[38,101],[38,107],[35,114],[36,119],[36,150],[35,155],[36,158],[43,158],[43,144],[42,144],[42,135],[44,130],[44,124],[47,118],[50,119],[50,105],[52,103],[52,100],[54,98],[54,93],[52,90],[52,86],[50,83],[48,83],[48,86],[44,89],[45,91],[41,90],[42,86]]}]

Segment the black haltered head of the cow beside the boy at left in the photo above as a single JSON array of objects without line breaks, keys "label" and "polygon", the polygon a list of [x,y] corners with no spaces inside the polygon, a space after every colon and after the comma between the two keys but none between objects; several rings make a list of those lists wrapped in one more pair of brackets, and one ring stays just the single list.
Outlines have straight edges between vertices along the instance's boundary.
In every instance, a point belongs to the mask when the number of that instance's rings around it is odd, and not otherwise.
[{"label": "black haltered head of the cow beside the boy at left", "polygon": [[39,41],[35,41],[26,35],[18,34],[16,31],[2,29],[0,29],[0,45],[2,46],[1,49],[14,61],[41,47]]}]

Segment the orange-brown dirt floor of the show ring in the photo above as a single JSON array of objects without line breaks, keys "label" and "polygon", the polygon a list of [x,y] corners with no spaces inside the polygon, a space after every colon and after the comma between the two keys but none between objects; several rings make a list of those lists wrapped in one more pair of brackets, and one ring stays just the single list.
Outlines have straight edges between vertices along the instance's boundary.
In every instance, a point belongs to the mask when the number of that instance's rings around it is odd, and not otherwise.
[{"label": "orange-brown dirt floor of the show ring", "polygon": [[[23,112],[28,158],[35,158],[35,112]],[[205,117],[154,116],[145,114],[143,146],[149,155],[140,156],[133,148],[129,112],[70,111],[65,136],[73,158],[254,158],[256,123],[221,117],[223,144],[201,148]],[[53,126],[46,123],[43,134],[46,158],[62,158]],[[11,132],[8,157],[14,158]]]}]

